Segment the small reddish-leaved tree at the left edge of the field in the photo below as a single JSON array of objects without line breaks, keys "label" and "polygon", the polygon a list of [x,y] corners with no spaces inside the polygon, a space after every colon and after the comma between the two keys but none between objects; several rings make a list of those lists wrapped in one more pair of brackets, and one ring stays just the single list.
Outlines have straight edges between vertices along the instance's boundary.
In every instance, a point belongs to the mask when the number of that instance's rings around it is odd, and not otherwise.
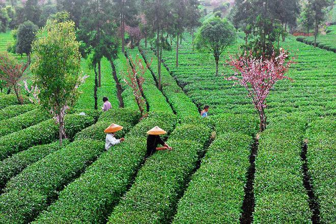
[{"label": "small reddish-leaved tree at the left edge of the field", "polygon": [[19,104],[23,104],[19,82],[27,67],[27,63],[17,63],[8,53],[0,54],[0,80],[3,80],[7,87],[14,89]]}]

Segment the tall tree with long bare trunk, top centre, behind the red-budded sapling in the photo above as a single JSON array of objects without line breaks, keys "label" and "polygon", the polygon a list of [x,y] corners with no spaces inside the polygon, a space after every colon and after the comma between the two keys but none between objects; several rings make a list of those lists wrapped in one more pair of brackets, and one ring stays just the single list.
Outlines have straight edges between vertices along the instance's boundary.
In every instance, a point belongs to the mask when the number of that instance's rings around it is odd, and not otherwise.
[{"label": "tall tree with long bare trunk, top centre, behind the red-budded sapling", "polygon": [[155,47],[157,56],[158,88],[162,89],[161,61],[162,49],[169,48],[167,36],[173,34],[174,17],[171,0],[143,0],[143,9],[147,22],[151,22],[151,33],[156,35]]}]

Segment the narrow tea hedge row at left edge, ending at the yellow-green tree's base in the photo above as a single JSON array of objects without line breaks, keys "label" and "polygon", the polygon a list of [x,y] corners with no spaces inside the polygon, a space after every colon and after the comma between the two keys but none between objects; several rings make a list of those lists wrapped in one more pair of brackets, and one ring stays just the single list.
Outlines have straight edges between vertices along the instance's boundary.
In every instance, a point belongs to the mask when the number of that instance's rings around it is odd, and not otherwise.
[{"label": "narrow tea hedge row at left edge, ending at the yellow-green tree's base", "polygon": [[[68,142],[65,140],[63,146],[66,146]],[[37,145],[4,159],[0,164],[0,189],[4,188],[7,181],[20,173],[24,168],[60,148],[59,142]]]}]

